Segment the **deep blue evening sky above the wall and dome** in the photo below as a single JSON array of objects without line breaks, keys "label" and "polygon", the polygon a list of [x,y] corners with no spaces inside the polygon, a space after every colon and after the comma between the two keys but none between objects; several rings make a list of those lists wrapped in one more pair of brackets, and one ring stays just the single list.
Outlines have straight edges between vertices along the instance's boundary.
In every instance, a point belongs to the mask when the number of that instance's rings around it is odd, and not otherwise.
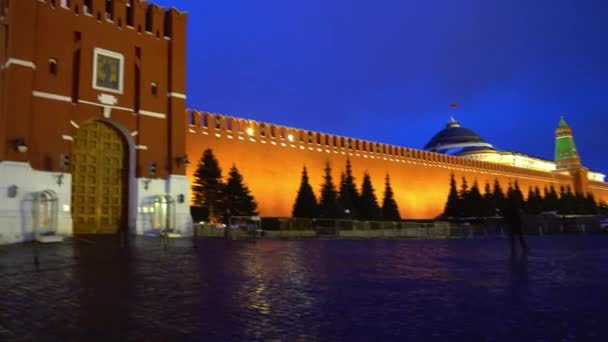
[{"label": "deep blue evening sky above the wall and dome", "polygon": [[422,148],[453,115],[608,172],[606,0],[155,0],[189,12],[188,106]]}]

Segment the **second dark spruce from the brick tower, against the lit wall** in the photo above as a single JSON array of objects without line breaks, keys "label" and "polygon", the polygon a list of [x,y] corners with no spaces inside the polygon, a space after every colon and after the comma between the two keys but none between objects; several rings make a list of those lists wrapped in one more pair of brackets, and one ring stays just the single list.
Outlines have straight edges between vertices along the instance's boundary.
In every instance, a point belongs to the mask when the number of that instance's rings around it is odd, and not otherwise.
[{"label": "second dark spruce from the brick tower, against the lit wall", "polygon": [[225,206],[230,209],[233,216],[255,216],[258,214],[258,205],[235,165],[230,168],[223,195]]}]

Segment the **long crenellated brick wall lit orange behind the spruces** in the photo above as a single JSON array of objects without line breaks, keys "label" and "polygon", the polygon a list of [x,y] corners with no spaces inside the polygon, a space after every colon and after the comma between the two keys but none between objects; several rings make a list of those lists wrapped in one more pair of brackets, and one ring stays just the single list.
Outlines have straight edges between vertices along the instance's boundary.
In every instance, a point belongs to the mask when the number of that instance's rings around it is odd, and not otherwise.
[{"label": "long crenellated brick wall lit orange behind the spruces", "polygon": [[[187,112],[186,150],[192,165],[187,171],[190,181],[206,148],[211,148],[226,177],[235,164],[257,200],[262,216],[291,216],[300,184],[302,167],[306,166],[315,194],[319,195],[323,169],[332,167],[336,186],[347,158],[360,188],[367,171],[379,201],[384,191],[386,174],[391,177],[395,199],[405,218],[433,218],[443,212],[454,173],[460,183],[466,177],[469,185],[477,180],[483,192],[486,182],[498,179],[504,190],[517,181],[527,194],[528,188],[553,185],[573,186],[567,175],[526,170],[505,165],[467,160],[444,154],[349,139],[318,132],[264,124],[202,112]],[[253,135],[247,130],[251,129]],[[293,141],[289,140],[289,135]],[[310,141],[310,142],[309,142]],[[608,201],[608,185],[590,183],[596,198]]]}]

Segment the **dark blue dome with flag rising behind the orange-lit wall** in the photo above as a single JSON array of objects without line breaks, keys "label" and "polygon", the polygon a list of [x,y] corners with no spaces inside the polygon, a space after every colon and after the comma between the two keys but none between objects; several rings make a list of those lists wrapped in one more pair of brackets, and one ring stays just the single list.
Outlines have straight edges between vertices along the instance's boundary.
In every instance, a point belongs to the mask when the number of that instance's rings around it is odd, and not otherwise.
[{"label": "dark blue dome with flag rising behind the orange-lit wall", "polygon": [[[454,118],[451,118],[446,127],[435,134],[424,149],[431,152],[458,154],[473,149],[494,150],[494,146],[470,129],[461,127]],[[456,152],[451,153],[451,151]]]}]

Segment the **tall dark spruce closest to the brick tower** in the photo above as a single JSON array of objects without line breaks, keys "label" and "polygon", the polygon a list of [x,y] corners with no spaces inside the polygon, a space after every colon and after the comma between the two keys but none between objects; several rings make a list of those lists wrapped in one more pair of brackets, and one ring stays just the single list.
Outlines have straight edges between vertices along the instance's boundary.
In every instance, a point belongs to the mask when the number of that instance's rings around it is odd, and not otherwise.
[{"label": "tall dark spruce closest to the brick tower", "polygon": [[223,214],[222,169],[213,151],[206,149],[194,171],[192,194],[194,206],[202,208],[207,217],[203,220],[219,221]]}]

